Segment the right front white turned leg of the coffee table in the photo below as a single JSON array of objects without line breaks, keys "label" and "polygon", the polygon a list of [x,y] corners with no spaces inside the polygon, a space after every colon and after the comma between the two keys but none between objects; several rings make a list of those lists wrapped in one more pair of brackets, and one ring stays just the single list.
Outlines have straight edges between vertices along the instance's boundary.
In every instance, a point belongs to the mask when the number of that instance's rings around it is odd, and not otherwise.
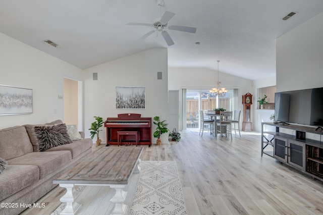
[{"label": "right front white turned leg of the coffee table", "polygon": [[117,215],[117,214],[125,214],[127,205],[124,204],[127,192],[123,190],[126,185],[110,185],[110,188],[116,190],[116,194],[111,198],[111,203],[115,203],[115,207],[112,211],[112,215]]}]

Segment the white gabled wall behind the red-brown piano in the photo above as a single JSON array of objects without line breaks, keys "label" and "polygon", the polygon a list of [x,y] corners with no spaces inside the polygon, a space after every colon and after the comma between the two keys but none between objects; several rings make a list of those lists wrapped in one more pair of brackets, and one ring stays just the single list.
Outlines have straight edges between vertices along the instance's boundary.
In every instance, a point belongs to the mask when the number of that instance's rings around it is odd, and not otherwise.
[{"label": "white gabled wall behind the red-brown piano", "polygon": [[[141,117],[159,116],[161,120],[168,120],[167,62],[167,49],[157,48],[86,69],[84,76],[85,136],[90,136],[88,129],[94,122],[93,116],[100,116],[105,121],[107,117],[117,117],[118,114],[136,113],[141,114]],[[163,72],[162,80],[157,80],[157,72]],[[93,81],[93,73],[97,73],[98,80]],[[115,109],[116,86],[145,86],[146,109]],[[105,142],[106,131],[104,127],[102,130],[99,137]],[[154,130],[155,125],[152,125],[152,132]],[[153,137],[152,142],[155,143]],[[162,142],[168,142],[168,134],[162,137]]]}]

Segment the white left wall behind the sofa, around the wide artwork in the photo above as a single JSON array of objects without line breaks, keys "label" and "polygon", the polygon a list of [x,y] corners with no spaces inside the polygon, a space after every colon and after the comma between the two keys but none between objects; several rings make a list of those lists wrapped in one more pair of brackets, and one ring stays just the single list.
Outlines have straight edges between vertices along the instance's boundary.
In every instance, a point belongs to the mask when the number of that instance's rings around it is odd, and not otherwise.
[{"label": "white left wall behind the sofa, around the wide artwork", "polygon": [[0,33],[0,84],[32,89],[33,114],[0,116],[0,129],[63,120],[64,76],[82,80],[82,70]]}]

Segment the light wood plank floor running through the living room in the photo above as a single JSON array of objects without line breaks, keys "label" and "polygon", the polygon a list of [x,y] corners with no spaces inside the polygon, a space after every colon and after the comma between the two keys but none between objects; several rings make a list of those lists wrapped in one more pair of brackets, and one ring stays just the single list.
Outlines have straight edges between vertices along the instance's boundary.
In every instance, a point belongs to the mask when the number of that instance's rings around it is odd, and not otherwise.
[{"label": "light wood plank floor running through the living room", "polygon": [[[178,143],[144,146],[141,159],[176,160],[188,214],[323,214],[323,183],[261,157],[259,133],[233,134],[233,140],[198,131],[181,136]],[[53,189],[39,200],[45,208],[23,214],[50,214],[64,192]]]}]

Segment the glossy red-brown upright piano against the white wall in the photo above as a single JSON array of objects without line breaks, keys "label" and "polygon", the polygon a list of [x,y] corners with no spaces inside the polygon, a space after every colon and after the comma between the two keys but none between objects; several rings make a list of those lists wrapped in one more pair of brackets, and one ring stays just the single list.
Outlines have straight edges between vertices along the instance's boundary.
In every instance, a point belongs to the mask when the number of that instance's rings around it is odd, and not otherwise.
[{"label": "glossy red-brown upright piano against the white wall", "polygon": [[[139,131],[138,145],[151,145],[151,118],[142,118],[141,114],[118,114],[118,118],[106,118],[106,146],[118,145],[118,131]],[[125,136],[124,141],[133,141]]]}]

